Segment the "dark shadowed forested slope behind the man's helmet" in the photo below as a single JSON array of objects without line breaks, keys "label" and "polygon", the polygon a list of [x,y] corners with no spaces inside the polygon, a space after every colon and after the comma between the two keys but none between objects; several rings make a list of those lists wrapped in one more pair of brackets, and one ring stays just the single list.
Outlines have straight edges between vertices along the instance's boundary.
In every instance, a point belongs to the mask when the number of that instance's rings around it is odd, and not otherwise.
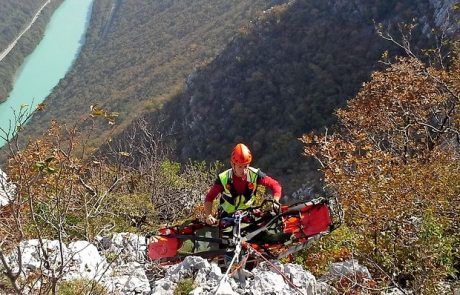
[{"label": "dark shadowed forested slope behind the man's helmet", "polygon": [[[161,112],[183,160],[227,162],[235,142],[254,151],[255,165],[280,178],[287,192],[315,179],[301,155],[303,133],[331,127],[333,112],[354,96],[385,50],[374,22],[429,22],[428,1],[299,0],[280,5],[240,30],[187,89]],[[421,27],[421,25],[420,25]],[[414,48],[424,42],[413,32]],[[425,43],[426,44],[426,43]],[[415,49],[416,50],[416,49]],[[150,117],[155,126],[158,114]],[[193,143],[193,144],[190,144]]]}]

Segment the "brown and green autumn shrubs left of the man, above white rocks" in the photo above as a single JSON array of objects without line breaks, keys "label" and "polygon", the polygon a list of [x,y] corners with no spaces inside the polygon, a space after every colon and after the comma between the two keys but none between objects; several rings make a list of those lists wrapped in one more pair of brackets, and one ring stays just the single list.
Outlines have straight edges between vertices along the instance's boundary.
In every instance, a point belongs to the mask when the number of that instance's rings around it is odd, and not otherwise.
[{"label": "brown and green autumn shrubs left of the man, above white rocks", "polygon": [[[92,108],[85,123],[91,126],[92,118],[101,117],[110,124],[107,114]],[[136,136],[145,135],[142,130],[136,129]],[[217,166],[173,162],[168,148],[150,133],[146,145],[136,145],[133,137],[127,146],[97,154],[88,144],[91,134],[90,128],[53,122],[21,149],[8,144],[5,171],[15,189],[10,204],[0,208],[0,246],[37,237],[93,241],[97,235],[146,232],[160,222],[197,214],[194,205]]]}]

